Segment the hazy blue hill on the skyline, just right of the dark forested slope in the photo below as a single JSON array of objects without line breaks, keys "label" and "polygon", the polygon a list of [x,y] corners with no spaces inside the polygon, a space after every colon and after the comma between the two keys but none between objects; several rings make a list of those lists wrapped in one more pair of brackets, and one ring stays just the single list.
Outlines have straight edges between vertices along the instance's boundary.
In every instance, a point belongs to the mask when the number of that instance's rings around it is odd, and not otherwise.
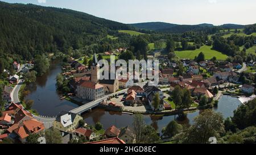
[{"label": "hazy blue hill on the skyline, just right of the dark forested slope", "polygon": [[137,27],[144,30],[159,30],[177,26],[177,24],[164,23],[164,22],[148,22],[148,23],[135,23],[129,24],[130,26]]}]

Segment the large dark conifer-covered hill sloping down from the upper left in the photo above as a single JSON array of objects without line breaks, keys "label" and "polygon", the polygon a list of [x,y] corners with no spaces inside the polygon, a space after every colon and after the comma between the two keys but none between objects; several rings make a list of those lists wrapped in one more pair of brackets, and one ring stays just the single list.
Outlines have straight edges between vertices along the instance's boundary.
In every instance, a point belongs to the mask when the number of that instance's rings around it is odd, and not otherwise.
[{"label": "large dark conifer-covered hill sloping down from the upper left", "polygon": [[0,2],[0,53],[31,58],[44,52],[65,52],[98,43],[129,25],[83,12]]}]

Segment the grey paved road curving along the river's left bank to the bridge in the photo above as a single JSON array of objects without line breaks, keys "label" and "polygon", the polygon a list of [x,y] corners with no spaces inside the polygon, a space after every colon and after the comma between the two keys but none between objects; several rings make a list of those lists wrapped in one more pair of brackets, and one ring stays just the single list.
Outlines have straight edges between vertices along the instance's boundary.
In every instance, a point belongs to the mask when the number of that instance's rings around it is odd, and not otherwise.
[{"label": "grey paved road curving along the river's left bank to the bridge", "polygon": [[[14,103],[20,103],[19,100],[19,89],[22,86],[22,81],[19,80],[18,84],[14,87],[13,91],[11,92],[11,100]],[[44,123],[44,127],[46,127],[47,129],[52,127],[52,123],[54,122],[55,118],[42,118],[40,116],[36,116],[33,115],[33,117],[37,120],[39,120],[40,122]]]}]

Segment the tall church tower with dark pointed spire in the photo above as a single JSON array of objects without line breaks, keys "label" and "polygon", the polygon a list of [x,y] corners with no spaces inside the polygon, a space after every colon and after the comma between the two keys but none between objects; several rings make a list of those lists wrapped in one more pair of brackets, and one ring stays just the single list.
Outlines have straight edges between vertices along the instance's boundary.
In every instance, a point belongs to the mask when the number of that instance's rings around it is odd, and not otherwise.
[{"label": "tall church tower with dark pointed spire", "polygon": [[90,66],[90,81],[98,83],[100,79],[100,65],[98,65],[97,55],[93,55],[93,63]]}]

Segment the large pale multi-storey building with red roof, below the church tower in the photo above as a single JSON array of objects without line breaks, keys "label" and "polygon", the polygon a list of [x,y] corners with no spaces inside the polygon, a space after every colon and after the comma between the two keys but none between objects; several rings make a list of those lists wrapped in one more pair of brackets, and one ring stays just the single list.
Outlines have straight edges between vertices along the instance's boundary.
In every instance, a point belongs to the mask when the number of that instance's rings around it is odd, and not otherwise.
[{"label": "large pale multi-storey building with red roof, below the church tower", "polygon": [[105,90],[99,83],[81,81],[76,87],[76,95],[81,99],[98,100],[105,96]]}]

